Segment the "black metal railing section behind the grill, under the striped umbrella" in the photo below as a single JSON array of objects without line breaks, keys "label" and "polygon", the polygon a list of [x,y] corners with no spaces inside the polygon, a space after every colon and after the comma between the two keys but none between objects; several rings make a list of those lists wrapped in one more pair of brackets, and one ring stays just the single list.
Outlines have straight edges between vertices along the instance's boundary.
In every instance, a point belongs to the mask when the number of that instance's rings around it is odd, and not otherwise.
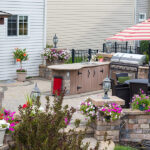
[{"label": "black metal railing section behind the grill, under the striped umbrella", "polygon": [[103,43],[103,53],[133,53],[133,54],[141,54],[140,47],[137,46],[129,46],[128,42],[124,44],[120,44],[117,42],[107,44]]}]

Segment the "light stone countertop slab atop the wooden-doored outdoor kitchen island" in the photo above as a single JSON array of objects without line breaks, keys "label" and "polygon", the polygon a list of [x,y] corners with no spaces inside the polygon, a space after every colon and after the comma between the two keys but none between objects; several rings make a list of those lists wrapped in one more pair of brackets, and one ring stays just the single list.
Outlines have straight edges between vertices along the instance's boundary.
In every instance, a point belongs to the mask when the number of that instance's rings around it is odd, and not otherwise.
[{"label": "light stone countertop slab atop the wooden-doored outdoor kitchen island", "polygon": [[52,70],[79,70],[81,68],[96,67],[108,64],[110,64],[110,62],[85,62],[85,63],[52,65],[48,66],[48,68]]}]

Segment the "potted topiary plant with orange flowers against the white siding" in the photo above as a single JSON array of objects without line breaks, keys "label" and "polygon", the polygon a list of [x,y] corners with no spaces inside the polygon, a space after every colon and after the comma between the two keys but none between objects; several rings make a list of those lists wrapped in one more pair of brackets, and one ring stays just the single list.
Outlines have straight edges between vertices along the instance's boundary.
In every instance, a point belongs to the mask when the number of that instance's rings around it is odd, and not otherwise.
[{"label": "potted topiary plant with orange flowers against the white siding", "polygon": [[23,82],[26,80],[26,74],[27,74],[26,70],[22,68],[22,62],[28,60],[26,49],[15,48],[13,54],[16,61],[20,63],[20,69],[17,69],[16,71],[17,80]]}]

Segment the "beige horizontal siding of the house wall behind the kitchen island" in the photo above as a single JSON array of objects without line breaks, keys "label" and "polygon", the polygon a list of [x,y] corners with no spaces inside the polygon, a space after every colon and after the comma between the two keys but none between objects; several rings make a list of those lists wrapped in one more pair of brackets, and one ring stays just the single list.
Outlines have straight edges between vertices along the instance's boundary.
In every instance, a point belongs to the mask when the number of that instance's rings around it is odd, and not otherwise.
[{"label": "beige horizontal siding of the house wall behind the kitchen island", "polygon": [[134,24],[134,0],[47,0],[47,43],[99,49],[104,40]]}]

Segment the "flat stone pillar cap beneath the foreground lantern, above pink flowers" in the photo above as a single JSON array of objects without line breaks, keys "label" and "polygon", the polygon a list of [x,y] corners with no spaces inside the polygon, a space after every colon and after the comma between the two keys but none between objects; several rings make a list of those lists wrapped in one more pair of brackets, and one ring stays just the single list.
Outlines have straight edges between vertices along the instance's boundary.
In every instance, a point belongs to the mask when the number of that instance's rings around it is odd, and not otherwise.
[{"label": "flat stone pillar cap beneath the foreground lantern, above pink flowers", "polygon": [[116,96],[109,96],[110,99],[103,99],[102,94],[90,96],[89,99],[95,106],[103,106],[104,104],[116,103],[118,105],[125,105],[125,101]]}]

